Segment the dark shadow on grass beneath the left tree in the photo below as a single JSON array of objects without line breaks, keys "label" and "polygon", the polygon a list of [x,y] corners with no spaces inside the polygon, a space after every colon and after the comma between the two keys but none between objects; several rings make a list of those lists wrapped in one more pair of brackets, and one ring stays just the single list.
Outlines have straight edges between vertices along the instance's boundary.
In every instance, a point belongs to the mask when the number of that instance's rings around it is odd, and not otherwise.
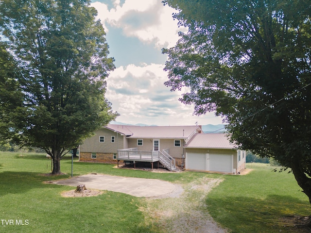
[{"label": "dark shadow on grass beneath the left tree", "polygon": [[36,172],[0,172],[1,191],[0,196],[7,194],[24,193],[34,188],[46,188],[44,181],[68,178],[65,176],[45,176]]}]

